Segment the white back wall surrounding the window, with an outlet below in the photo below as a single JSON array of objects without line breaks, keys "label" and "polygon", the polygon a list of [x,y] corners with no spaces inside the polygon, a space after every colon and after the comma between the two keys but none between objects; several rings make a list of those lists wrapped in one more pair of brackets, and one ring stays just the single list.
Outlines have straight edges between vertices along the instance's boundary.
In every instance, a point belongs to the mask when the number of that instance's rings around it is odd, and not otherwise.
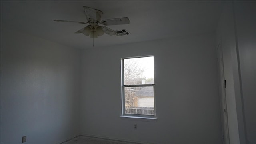
[{"label": "white back wall surrounding the window, with an outlet below", "polygon": [[[83,50],[81,134],[154,144],[220,144],[214,40],[213,34],[202,34]],[[120,118],[120,59],[146,55],[154,55],[158,120]]]}]

